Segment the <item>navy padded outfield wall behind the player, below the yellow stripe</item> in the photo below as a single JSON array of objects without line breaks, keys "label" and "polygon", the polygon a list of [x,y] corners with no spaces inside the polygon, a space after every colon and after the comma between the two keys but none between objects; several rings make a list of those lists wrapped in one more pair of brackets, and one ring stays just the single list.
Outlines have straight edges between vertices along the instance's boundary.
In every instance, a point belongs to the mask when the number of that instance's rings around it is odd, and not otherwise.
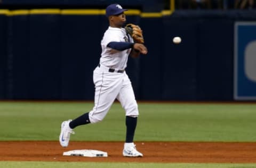
[{"label": "navy padded outfield wall behind the player, below the yellow stripe", "polygon": [[[234,23],[253,15],[127,15],[143,29],[149,51],[128,62],[137,99],[233,100]],[[0,15],[0,23],[1,99],[93,99],[92,73],[108,27],[104,15]],[[182,43],[173,44],[174,36]]]}]

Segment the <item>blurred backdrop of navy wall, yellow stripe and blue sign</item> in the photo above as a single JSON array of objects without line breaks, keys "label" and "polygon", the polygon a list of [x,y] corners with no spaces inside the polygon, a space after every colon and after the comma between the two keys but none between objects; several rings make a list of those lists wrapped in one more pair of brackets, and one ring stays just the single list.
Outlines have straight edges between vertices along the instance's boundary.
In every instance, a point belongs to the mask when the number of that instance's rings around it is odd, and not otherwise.
[{"label": "blurred backdrop of navy wall, yellow stripe and blue sign", "polygon": [[148,47],[126,69],[138,100],[256,100],[253,0],[0,0],[0,99],[93,100],[111,3]]}]

